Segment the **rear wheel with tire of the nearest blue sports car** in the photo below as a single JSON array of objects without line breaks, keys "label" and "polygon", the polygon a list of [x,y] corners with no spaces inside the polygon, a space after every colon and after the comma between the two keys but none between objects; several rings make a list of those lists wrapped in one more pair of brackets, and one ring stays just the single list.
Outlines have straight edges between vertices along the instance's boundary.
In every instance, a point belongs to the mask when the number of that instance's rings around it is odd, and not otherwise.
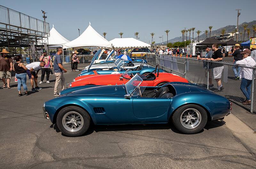
[{"label": "rear wheel with tire of the nearest blue sports car", "polygon": [[178,108],[172,115],[174,126],[182,133],[195,134],[203,130],[207,123],[207,112],[196,104]]}]

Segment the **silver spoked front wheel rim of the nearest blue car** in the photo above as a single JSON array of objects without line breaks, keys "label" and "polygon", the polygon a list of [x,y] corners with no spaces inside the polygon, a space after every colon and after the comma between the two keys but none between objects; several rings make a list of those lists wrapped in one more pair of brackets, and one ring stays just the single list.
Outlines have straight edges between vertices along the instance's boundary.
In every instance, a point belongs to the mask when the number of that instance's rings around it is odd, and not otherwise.
[{"label": "silver spoked front wheel rim of the nearest blue car", "polygon": [[69,111],[63,116],[62,125],[69,132],[77,132],[84,126],[84,119],[80,113]]}]

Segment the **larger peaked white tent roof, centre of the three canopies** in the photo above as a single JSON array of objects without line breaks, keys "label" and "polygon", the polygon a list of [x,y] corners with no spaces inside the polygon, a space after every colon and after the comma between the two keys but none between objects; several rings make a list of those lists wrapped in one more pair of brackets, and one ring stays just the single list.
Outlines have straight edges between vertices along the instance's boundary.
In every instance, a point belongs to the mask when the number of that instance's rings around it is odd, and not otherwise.
[{"label": "larger peaked white tent roof, centre of the three canopies", "polygon": [[96,32],[90,25],[85,29],[85,31],[76,39],[71,42],[66,43],[63,48],[75,48],[75,47],[108,47],[111,48],[112,44],[103,38],[98,32]]}]

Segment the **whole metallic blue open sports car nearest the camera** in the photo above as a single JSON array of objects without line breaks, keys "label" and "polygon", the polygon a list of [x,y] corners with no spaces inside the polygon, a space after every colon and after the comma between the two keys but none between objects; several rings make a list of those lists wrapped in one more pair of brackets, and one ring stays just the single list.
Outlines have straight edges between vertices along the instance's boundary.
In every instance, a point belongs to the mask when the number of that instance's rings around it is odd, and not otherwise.
[{"label": "whole metallic blue open sports car nearest the camera", "polygon": [[68,88],[44,103],[44,117],[67,136],[81,136],[90,125],[168,123],[183,133],[200,132],[207,121],[230,113],[227,98],[190,83],[140,86],[136,74],[125,85]]}]

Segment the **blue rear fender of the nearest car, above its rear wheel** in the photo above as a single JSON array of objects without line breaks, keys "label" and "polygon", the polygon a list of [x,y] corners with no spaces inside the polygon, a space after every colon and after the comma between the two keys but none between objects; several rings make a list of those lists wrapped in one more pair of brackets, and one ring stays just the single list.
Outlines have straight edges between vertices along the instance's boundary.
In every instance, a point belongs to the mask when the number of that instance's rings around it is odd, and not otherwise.
[{"label": "blue rear fender of the nearest car, above its rear wheel", "polygon": [[230,102],[227,98],[213,93],[191,92],[183,93],[172,98],[169,116],[185,104],[198,104],[209,112],[209,119],[220,119],[225,117],[230,111]]}]

